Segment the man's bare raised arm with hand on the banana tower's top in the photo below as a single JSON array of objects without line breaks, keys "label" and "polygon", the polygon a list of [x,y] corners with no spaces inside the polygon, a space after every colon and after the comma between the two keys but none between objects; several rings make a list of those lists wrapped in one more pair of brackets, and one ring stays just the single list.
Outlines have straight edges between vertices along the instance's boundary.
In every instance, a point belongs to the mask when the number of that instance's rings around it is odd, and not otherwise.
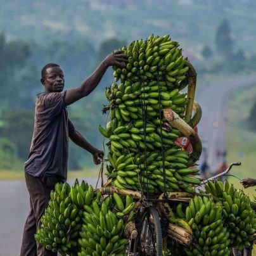
[{"label": "man's bare raised arm with hand on the banana tower's top", "polygon": [[117,51],[106,56],[105,60],[99,64],[99,67],[96,68],[93,74],[84,80],[79,87],[67,90],[65,95],[65,105],[70,105],[75,101],[89,95],[96,88],[96,86],[98,86],[108,67],[113,65],[121,67],[122,61],[127,61],[127,56],[122,54],[122,52],[123,51]]}]

